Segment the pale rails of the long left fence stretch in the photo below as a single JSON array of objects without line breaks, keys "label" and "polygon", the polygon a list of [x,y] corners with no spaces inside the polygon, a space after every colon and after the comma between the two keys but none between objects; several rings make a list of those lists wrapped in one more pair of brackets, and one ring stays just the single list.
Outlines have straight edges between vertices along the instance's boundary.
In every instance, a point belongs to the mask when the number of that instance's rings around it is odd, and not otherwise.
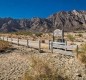
[{"label": "pale rails of the long left fence stretch", "polygon": [[18,45],[24,45],[27,47],[33,47],[33,48],[40,48],[39,44],[41,43],[40,41],[30,41],[28,39],[19,39],[19,38],[9,38],[9,37],[0,37],[1,40],[4,41],[9,41]]}]

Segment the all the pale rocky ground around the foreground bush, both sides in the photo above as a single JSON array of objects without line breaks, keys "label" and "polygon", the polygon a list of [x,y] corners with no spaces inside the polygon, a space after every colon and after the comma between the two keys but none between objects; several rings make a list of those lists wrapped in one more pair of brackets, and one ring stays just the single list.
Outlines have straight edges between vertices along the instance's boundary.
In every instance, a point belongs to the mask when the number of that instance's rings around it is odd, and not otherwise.
[{"label": "all the pale rocky ground around the foreground bush, both sides", "polygon": [[17,45],[0,53],[0,80],[23,80],[24,73],[31,68],[32,55],[48,61],[49,67],[58,70],[62,77],[68,77],[69,80],[86,80],[86,66],[75,57],[46,51],[39,53],[38,50]]}]

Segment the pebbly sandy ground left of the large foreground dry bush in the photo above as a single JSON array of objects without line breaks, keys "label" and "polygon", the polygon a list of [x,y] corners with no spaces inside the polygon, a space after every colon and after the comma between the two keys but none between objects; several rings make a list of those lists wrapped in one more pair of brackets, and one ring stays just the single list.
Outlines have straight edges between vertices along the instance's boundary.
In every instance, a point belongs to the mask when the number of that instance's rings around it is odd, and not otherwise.
[{"label": "pebbly sandy ground left of the large foreground dry bush", "polygon": [[22,75],[30,66],[30,55],[40,54],[38,50],[14,45],[12,49],[0,53],[0,80],[22,80]]}]

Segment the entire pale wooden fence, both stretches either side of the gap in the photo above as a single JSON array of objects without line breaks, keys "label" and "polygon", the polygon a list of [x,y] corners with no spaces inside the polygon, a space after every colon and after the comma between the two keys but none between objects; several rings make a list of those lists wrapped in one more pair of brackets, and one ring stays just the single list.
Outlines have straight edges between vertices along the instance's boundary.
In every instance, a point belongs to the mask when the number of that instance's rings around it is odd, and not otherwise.
[{"label": "entire pale wooden fence, both stretches either side of the gap", "polygon": [[[4,37],[1,36],[0,37],[1,40],[4,41],[9,41],[11,43],[17,44],[17,45],[24,45],[27,47],[32,47],[32,48],[36,48],[39,50],[39,52],[41,52],[41,44],[42,42],[39,41],[30,41],[29,39],[19,39],[19,38],[12,38],[12,37]],[[75,49],[77,49],[77,53],[78,53],[78,46],[77,45],[67,45],[67,42],[53,42],[50,41],[47,43],[49,50],[51,50],[51,52],[53,53],[53,49],[64,49],[65,51],[70,50],[73,51]]]}]

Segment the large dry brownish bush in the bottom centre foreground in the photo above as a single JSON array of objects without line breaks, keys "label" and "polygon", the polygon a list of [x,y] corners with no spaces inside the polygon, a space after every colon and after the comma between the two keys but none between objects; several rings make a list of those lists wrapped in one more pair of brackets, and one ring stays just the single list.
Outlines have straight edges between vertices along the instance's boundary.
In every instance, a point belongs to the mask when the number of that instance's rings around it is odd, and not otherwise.
[{"label": "large dry brownish bush in the bottom centre foreground", "polygon": [[35,56],[31,56],[31,60],[31,68],[25,72],[23,80],[69,80],[54,71],[54,67],[50,68],[46,60]]}]

